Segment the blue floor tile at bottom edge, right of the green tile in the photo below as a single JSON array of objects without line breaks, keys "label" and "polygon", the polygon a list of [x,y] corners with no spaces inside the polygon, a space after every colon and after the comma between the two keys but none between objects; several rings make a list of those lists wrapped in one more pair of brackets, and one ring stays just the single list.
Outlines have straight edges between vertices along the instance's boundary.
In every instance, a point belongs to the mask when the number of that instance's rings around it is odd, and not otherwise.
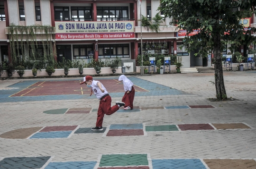
[{"label": "blue floor tile at bottom edge, right of the green tile", "polygon": [[153,169],[206,169],[199,159],[152,160]]}]

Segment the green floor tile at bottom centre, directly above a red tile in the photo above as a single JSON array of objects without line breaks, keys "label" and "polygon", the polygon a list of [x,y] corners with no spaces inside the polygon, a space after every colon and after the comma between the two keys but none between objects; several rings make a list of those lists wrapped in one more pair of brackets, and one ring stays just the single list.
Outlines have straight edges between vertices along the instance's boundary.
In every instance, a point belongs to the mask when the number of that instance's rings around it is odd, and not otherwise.
[{"label": "green floor tile at bottom centre, directly above a red tile", "polygon": [[99,167],[148,165],[147,154],[109,154],[102,155]]}]

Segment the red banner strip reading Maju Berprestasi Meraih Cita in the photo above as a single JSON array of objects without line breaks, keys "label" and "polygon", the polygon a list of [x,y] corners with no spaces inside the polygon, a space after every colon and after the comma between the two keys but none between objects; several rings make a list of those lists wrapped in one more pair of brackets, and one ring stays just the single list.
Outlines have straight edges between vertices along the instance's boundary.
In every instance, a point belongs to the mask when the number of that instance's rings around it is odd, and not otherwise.
[{"label": "red banner strip reading Maju Berprestasi Meraih Cita", "polygon": [[55,34],[55,39],[116,39],[116,38],[134,38],[134,37],[135,37],[134,33]]}]

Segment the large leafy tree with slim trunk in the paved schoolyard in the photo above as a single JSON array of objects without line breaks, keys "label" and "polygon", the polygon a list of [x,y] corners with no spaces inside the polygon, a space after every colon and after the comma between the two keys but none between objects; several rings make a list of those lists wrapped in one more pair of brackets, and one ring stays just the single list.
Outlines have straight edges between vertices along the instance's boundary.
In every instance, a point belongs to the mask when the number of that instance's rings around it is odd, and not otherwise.
[{"label": "large leafy tree with slim trunk in the paved schoolyard", "polygon": [[[189,51],[200,49],[195,55],[202,57],[213,51],[217,100],[227,99],[221,51],[228,41],[236,45],[253,41],[251,33],[255,27],[245,29],[240,20],[251,17],[254,7],[256,0],[161,0],[158,10],[173,18],[170,24],[187,31],[183,42],[189,45]],[[198,30],[198,34],[188,36],[193,30]]]}]

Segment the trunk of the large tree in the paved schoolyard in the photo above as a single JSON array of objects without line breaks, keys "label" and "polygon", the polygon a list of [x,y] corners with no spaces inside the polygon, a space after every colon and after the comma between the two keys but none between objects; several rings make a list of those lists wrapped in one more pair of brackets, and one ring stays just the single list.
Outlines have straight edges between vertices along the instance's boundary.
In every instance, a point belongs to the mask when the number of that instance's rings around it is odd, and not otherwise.
[{"label": "trunk of the large tree in the paved schoolyard", "polygon": [[216,88],[216,97],[217,100],[223,100],[227,99],[227,94],[226,94],[226,89],[224,85],[224,78],[223,78],[223,71],[222,71],[222,54],[220,52],[220,35],[217,34],[215,37],[213,37],[214,41],[214,49],[213,49],[213,54],[214,54],[214,59],[215,59],[215,88]]}]

